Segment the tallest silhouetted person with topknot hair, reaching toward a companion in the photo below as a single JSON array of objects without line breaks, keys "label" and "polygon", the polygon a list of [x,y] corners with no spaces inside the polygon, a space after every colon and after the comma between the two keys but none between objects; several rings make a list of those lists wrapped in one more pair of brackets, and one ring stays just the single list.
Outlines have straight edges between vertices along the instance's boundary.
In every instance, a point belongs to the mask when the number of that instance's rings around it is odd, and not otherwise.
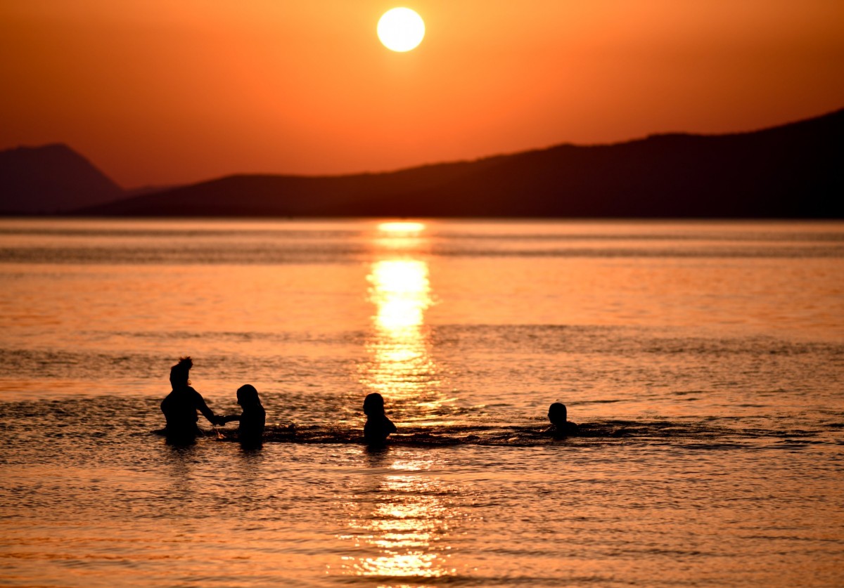
[{"label": "tallest silhouetted person with topknot hair, reaching toward a companion", "polygon": [[167,420],[165,432],[171,439],[191,440],[199,434],[197,410],[214,425],[223,424],[222,417],[215,416],[208,404],[205,404],[202,394],[191,388],[187,377],[192,366],[190,357],[181,357],[179,363],[170,368],[170,386],[173,390],[161,401],[161,412]]}]

